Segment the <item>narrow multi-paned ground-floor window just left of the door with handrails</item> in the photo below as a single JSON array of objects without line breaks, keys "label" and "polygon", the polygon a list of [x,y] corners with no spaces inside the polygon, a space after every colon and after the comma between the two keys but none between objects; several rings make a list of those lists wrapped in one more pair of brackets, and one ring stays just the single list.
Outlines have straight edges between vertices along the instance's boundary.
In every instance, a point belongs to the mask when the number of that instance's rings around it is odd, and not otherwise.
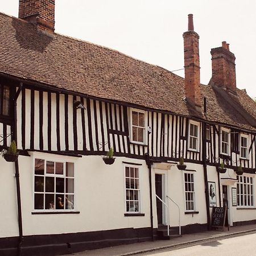
[{"label": "narrow multi-paned ground-floor window just left of the door with handrails", "polygon": [[139,168],[125,166],[126,212],[140,212]]}]

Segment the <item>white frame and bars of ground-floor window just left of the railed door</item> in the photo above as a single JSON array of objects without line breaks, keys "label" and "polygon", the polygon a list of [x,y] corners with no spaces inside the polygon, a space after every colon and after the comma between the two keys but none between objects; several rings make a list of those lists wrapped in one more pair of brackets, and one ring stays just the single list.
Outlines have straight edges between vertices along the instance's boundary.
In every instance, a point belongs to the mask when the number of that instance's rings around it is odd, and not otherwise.
[{"label": "white frame and bars of ground-floor window just left of the railed door", "polygon": [[[139,188],[136,189],[132,189],[132,188],[126,188],[126,167],[128,168],[137,168],[138,169],[138,178],[135,177],[128,177],[129,179],[138,179],[139,181]],[[134,175],[135,176],[135,175]],[[125,201],[125,213],[141,213],[142,212],[142,204],[141,204],[141,166],[137,166],[135,164],[124,164],[123,165],[123,188],[124,188],[124,201]],[[138,201],[138,207],[139,210],[138,211],[128,211],[127,212],[127,208],[126,208],[126,190],[133,190],[133,191],[138,191],[138,200],[128,200],[128,201]]]}]

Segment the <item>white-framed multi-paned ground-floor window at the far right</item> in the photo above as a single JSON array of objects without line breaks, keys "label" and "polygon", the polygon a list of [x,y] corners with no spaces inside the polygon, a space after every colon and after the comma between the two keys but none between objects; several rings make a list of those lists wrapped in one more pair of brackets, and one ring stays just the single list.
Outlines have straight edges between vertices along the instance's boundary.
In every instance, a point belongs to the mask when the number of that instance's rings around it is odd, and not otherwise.
[{"label": "white-framed multi-paned ground-floor window at the far right", "polygon": [[[242,193],[241,193],[241,190],[242,190]],[[245,205],[245,201],[246,201],[246,205]],[[237,208],[254,208],[254,176],[253,175],[248,175],[248,174],[237,175]]]}]

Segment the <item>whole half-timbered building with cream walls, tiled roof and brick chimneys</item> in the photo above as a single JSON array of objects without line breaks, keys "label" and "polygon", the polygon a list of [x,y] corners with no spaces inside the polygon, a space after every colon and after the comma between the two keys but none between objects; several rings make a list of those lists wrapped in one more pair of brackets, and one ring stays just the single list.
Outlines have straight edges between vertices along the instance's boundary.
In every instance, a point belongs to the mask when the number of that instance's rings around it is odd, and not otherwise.
[{"label": "whole half-timbered building with cream walls, tiled roof and brick chimneys", "polygon": [[54,5],[20,0],[19,18],[0,14],[0,147],[19,150],[15,163],[0,159],[0,254],[147,241],[163,225],[207,230],[213,206],[228,207],[231,226],[255,223],[256,104],[236,88],[229,45],[212,49],[201,85],[192,15],[183,79],[56,34]]}]

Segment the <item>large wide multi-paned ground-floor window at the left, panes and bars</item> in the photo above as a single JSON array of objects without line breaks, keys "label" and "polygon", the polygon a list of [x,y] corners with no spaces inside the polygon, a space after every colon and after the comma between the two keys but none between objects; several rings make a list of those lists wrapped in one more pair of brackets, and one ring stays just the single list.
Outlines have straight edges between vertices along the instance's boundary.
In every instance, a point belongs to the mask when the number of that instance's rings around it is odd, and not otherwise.
[{"label": "large wide multi-paned ground-floor window at the left, panes and bars", "polygon": [[35,159],[34,209],[74,209],[74,163]]}]

